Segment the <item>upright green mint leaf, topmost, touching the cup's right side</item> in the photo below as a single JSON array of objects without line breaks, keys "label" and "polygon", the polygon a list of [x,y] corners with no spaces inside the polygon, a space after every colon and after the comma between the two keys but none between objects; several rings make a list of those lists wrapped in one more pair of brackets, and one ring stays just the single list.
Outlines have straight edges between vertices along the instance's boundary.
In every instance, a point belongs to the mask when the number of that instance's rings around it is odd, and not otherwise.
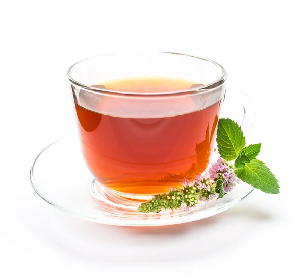
[{"label": "upright green mint leaf, topmost, touching the cup's right side", "polygon": [[245,146],[241,127],[231,119],[220,119],[217,129],[218,151],[227,161],[235,159]]}]

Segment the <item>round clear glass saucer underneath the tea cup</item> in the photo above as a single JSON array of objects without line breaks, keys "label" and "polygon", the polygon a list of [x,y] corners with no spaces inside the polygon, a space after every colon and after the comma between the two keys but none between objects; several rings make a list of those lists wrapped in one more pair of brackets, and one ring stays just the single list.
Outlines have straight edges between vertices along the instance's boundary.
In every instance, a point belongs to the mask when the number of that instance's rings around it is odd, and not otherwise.
[{"label": "round clear glass saucer underneath the tea cup", "polygon": [[253,187],[241,182],[224,198],[202,202],[188,212],[143,214],[137,211],[137,201],[115,205],[116,196],[110,196],[87,169],[77,134],[46,147],[35,159],[30,179],[36,193],[47,203],[88,221],[117,226],[163,226],[199,220],[227,210],[253,191]]}]

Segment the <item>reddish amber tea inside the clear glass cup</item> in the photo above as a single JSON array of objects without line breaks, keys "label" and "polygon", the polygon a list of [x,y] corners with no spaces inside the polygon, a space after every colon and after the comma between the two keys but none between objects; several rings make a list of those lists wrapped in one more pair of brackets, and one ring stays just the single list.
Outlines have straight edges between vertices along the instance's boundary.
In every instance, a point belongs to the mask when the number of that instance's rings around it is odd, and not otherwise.
[{"label": "reddish amber tea inside the clear glass cup", "polygon": [[[134,78],[103,85],[108,90],[145,94],[188,90],[193,84],[179,79]],[[193,105],[191,98],[184,102]],[[104,186],[124,193],[151,195],[180,187],[185,177],[194,178],[208,165],[219,108],[220,101],[188,114],[128,118],[100,114],[76,104],[87,166]]]}]

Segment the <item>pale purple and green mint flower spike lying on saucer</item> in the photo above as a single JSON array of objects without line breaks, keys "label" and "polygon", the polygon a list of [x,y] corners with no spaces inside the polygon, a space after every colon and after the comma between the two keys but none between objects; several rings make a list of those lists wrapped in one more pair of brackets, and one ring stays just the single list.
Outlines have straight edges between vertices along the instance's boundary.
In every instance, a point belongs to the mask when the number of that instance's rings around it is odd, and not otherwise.
[{"label": "pale purple and green mint flower spike lying on saucer", "polygon": [[[208,202],[216,198],[216,183],[220,179],[223,181],[225,193],[231,191],[235,186],[234,167],[221,157],[207,172],[197,175],[192,181],[184,179],[182,182],[183,188],[170,188],[168,193],[155,195],[152,199],[142,203],[138,207],[138,211],[158,213],[169,208],[172,211],[178,208],[189,211],[190,207],[195,206],[200,201]],[[219,194],[219,198],[220,196]]]}]

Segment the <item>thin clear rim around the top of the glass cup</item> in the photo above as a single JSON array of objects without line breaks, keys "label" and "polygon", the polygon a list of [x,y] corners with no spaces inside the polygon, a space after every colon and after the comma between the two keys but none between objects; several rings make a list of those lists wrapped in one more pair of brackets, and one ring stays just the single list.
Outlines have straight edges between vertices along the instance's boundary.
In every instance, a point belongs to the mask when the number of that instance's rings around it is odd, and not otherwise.
[{"label": "thin clear rim around the top of the glass cup", "polygon": [[[72,75],[71,75],[71,71],[73,69],[73,67],[85,60],[88,59],[92,59],[95,57],[101,57],[101,56],[119,56],[119,55],[130,55],[130,54],[161,54],[161,53],[166,53],[166,54],[175,54],[175,55],[183,55],[183,56],[188,56],[191,58],[195,58],[195,59],[200,59],[206,62],[210,62],[216,66],[218,66],[221,69],[221,75],[220,77],[210,83],[210,84],[206,84],[206,85],[202,85],[202,86],[198,86],[198,87],[194,87],[192,89],[187,89],[187,90],[179,90],[179,91],[165,91],[165,92],[145,92],[145,94],[143,92],[129,92],[129,91],[115,91],[115,90],[108,90],[108,89],[103,89],[103,88],[98,88],[98,87],[94,87],[94,86],[90,86],[90,85],[86,85],[83,84],[77,80],[75,80]],[[184,54],[184,53],[177,53],[177,52],[168,52],[168,51],[148,51],[148,52],[119,52],[119,53],[108,53],[108,54],[100,54],[100,55],[95,55],[95,56],[91,56],[88,58],[85,58],[83,60],[80,60],[74,64],[72,64],[68,69],[67,69],[67,77],[68,80],[70,81],[70,83],[77,85],[79,87],[82,87],[85,90],[89,90],[95,93],[100,93],[100,94],[114,94],[114,95],[133,95],[133,96],[154,96],[154,95],[178,95],[178,94],[188,94],[188,93],[192,93],[192,92],[198,92],[198,91],[204,91],[204,90],[211,90],[211,89],[215,89],[217,87],[219,87],[220,85],[222,85],[223,83],[225,83],[226,79],[227,79],[227,72],[225,70],[225,68],[220,65],[219,63],[207,59],[207,58],[203,58],[200,56],[193,56],[193,55],[188,55],[188,54]]]}]

